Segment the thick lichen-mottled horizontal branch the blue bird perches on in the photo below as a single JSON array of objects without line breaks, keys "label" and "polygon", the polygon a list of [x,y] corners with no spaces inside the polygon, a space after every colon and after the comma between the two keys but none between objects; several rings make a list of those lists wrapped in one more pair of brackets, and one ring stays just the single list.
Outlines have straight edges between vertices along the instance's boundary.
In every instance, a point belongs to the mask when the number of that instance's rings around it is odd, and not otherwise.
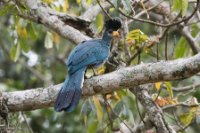
[{"label": "thick lichen-mottled horizontal branch the blue bird perches on", "polygon": [[[186,59],[140,64],[86,79],[82,94],[85,97],[146,83],[184,79],[198,72],[200,54]],[[8,99],[10,111],[33,110],[52,106],[60,87],[61,84],[48,88],[4,92],[3,96]]]}]

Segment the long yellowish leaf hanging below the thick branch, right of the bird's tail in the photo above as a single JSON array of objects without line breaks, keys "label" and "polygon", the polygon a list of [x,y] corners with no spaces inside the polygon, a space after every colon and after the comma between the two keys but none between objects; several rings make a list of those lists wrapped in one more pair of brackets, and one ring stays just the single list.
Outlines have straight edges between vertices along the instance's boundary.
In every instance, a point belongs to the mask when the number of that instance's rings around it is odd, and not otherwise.
[{"label": "long yellowish leaf hanging below the thick branch, right of the bird's tail", "polygon": [[102,108],[97,96],[93,96],[93,101],[94,101],[94,105],[95,105],[96,110],[97,110],[98,121],[102,122],[102,119],[103,119],[103,108]]}]

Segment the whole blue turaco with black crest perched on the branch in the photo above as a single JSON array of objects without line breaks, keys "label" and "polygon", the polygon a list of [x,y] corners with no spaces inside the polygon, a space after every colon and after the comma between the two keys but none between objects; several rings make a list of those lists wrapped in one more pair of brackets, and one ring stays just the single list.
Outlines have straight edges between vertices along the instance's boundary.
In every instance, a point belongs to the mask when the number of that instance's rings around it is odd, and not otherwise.
[{"label": "whole blue turaco with black crest perched on the branch", "polygon": [[54,108],[56,111],[73,111],[81,98],[84,74],[88,67],[99,67],[109,57],[110,43],[113,36],[119,35],[119,19],[105,22],[101,39],[83,41],[70,53],[67,64],[67,77],[58,93]]}]

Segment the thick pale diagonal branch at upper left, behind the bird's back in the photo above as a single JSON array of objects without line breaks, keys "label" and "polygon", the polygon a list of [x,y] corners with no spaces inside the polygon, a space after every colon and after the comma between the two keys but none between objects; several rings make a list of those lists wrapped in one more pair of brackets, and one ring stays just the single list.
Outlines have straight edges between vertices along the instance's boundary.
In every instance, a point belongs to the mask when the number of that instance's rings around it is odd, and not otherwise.
[{"label": "thick pale diagonal branch at upper left, behind the bird's back", "polygon": [[[31,4],[28,4],[28,0],[27,5],[32,9]],[[19,16],[43,24],[74,43],[80,43],[90,39],[90,37],[82,34],[79,30],[84,30],[89,35],[92,34],[89,28],[90,21],[66,13],[56,12],[43,3],[36,3],[34,9],[29,13],[19,13]]]}]

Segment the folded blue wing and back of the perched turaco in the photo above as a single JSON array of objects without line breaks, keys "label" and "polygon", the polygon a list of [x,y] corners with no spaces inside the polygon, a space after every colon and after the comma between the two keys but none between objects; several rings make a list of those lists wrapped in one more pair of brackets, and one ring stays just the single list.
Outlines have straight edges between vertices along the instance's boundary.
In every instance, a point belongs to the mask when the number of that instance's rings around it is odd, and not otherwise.
[{"label": "folded blue wing and back of the perched turaco", "polygon": [[109,46],[102,46],[99,40],[79,44],[70,54],[67,66],[70,74],[88,65],[103,63],[109,55]]}]

